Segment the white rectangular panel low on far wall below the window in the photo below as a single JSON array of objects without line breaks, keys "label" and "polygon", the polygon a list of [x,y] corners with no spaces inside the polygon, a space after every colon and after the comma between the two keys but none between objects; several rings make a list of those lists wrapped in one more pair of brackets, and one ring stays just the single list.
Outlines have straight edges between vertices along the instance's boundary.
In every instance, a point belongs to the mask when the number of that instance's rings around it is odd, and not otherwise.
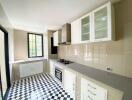
[{"label": "white rectangular panel low on far wall below the window", "polygon": [[43,61],[20,64],[20,78],[43,72]]}]

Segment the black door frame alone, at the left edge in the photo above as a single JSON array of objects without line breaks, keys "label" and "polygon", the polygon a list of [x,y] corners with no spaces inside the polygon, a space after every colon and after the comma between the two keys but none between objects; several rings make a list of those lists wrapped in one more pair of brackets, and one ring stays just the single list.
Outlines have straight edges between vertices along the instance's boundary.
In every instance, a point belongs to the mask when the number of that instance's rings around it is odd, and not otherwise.
[{"label": "black door frame alone, at the left edge", "polygon": [[0,25],[0,30],[4,33],[4,46],[5,46],[5,67],[6,67],[6,79],[7,79],[7,90],[4,98],[7,96],[8,89],[11,86],[10,83],[10,68],[9,68],[9,44],[8,44],[8,31]]}]

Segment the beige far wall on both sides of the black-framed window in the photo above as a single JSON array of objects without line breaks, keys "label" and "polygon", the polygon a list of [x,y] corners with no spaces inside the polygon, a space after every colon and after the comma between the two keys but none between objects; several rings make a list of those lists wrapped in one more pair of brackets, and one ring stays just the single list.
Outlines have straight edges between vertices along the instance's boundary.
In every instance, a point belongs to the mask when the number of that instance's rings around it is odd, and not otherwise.
[{"label": "beige far wall on both sides of the black-framed window", "polygon": [[[56,54],[51,54],[51,41],[54,31],[48,30],[43,35],[44,44],[44,58],[57,58]],[[28,44],[27,44],[27,31],[14,30],[14,59],[25,60],[28,59]]]}]

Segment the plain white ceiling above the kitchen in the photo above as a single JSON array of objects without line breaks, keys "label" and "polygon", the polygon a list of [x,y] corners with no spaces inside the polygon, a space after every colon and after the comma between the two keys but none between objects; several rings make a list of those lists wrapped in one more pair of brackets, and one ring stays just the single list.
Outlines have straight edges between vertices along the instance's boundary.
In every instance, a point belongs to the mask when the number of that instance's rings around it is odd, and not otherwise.
[{"label": "plain white ceiling above the kitchen", "polygon": [[1,0],[16,29],[45,32],[58,29],[108,0]]}]

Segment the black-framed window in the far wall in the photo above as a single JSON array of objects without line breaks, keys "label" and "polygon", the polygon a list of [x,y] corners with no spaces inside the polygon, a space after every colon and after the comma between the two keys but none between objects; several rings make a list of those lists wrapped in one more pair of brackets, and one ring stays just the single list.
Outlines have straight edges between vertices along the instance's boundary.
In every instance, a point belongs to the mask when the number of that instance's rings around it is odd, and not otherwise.
[{"label": "black-framed window in the far wall", "polygon": [[43,35],[28,33],[28,57],[43,56]]}]

